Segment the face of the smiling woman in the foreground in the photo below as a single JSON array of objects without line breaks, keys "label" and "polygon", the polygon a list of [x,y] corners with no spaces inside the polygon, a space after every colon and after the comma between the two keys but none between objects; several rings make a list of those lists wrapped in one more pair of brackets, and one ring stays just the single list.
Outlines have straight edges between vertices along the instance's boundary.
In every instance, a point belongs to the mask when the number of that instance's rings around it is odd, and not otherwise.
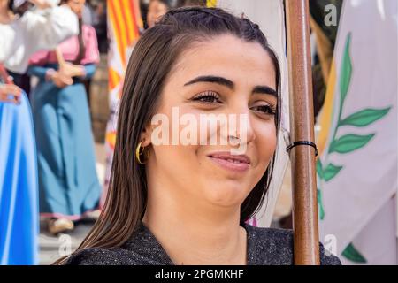
[{"label": "face of the smiling woman in the foreground", "polygon": [[[151,143],[149,187],[155,180],[174,201],[239,208],[276,148],[275,76],[259,43],[233,35],[183,52],[165,81],[160,115],[142,134],[144,145]],[[168,128],[159,117],[168,119]]]}]

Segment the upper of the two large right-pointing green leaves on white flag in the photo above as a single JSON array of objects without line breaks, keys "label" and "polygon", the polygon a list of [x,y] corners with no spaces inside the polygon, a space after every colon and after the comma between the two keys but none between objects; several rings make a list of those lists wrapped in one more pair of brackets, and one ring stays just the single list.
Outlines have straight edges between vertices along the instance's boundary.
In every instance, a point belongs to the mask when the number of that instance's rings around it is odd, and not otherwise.
[{"label": "upper of the two large right-pointing green leaves on white flag", "polygon": [[364,109],[349,115],[340,122],[340,126],[368,126],[387,115],[391,107],[385,109]]}]

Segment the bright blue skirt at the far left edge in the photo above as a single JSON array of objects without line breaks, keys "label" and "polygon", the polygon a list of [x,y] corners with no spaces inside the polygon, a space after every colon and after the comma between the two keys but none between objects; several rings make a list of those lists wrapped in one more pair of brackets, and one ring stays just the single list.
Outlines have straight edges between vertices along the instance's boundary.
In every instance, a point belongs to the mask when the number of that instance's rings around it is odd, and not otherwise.
[{"label": "bright blue skirt at the far left edge", "polygon": [[38,263],[34,127],[27,96],[0,103],[0,264]]}]

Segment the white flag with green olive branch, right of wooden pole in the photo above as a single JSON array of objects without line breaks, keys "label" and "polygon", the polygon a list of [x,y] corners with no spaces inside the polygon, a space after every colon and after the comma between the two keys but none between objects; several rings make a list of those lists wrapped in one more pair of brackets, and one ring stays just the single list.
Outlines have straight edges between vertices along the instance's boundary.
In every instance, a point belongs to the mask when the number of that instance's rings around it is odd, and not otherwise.
[{"label": "white flag with green olive branch, right of wooden pole", "polygon": [[396,264],[397,11],[396,0],[341,11],[317,172],[320,239],[344,264]]}]

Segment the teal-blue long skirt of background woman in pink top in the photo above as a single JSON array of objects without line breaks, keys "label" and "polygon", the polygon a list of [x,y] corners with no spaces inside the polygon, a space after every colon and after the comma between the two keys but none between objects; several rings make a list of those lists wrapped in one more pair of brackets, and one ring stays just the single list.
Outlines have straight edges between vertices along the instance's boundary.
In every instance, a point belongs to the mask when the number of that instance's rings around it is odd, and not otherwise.
[{"label": "teal-blue long skirt of background woman in pink top", "polygon": [[86,90],[41,80],[31,97],[41,215],[77,220],[98,208],[101,194]]}]

